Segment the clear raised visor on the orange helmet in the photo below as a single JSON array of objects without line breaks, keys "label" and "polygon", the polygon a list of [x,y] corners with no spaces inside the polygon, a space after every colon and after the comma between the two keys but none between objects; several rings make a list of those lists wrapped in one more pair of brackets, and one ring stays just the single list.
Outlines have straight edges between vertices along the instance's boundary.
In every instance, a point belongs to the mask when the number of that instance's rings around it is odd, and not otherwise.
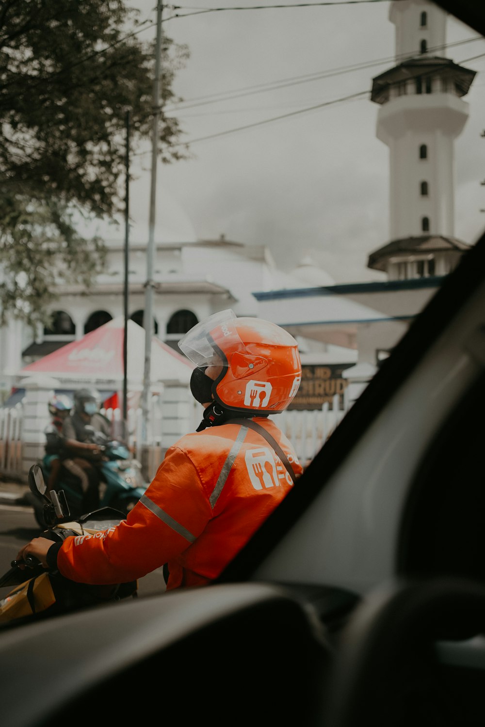
[{"label": "clear raised visor on the orange helmet", "polygon": [[199,368],[221,364],[223,362],[216,348],[218,341],[225,342],[230,348],[243,346],[234,325],[235,321],[236,313],[231,308],[220,310],[219,313],[214,313],[213,316],[209,316],[193,326],[180,339],[178,346],[185,356]]}]

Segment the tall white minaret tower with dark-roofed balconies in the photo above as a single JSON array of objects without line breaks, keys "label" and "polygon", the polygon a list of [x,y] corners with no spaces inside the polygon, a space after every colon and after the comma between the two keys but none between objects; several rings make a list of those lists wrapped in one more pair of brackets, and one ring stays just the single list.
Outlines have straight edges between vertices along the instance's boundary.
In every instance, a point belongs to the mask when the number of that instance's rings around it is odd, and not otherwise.
[{"label": "tall white minaret tower with dark-roofed balconies", "polygon": [[476,74],[444,57],[446,13],[432,2],[394,1],[389,19],[396,65],[374,78],[371,99],[390,152],[390,243],[369,256],[369,268],[390,279],[444,275],[468,248],[454,238],[453,145]]}]

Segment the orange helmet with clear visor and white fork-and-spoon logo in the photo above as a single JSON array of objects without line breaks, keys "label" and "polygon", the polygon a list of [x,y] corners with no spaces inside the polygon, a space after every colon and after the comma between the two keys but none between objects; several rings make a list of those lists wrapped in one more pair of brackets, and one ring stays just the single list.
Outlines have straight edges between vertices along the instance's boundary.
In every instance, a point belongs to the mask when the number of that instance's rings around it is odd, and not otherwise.
[{"label": "orange helmet with clear visor and white fork-and-spoon logo", "polygon": [[260,318],[236,318],[222,310],[196,324],[179,342],[201,369],[221,366],[212,395],[241,414],[277,414],[286,409],[302,378],[298,344],[280,326]]}]

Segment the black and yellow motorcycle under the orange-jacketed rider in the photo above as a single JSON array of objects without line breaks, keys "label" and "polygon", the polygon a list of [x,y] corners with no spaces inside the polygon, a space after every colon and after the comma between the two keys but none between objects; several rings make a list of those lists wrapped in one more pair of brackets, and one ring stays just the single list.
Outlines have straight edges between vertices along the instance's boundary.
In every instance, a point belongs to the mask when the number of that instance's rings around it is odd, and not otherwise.
[{"label": "black and yellow motorcycle under the orange-jacketed rider", "polygon": [[[102,507],[82,515],[77,521],[69,521],[71,513],[63,490],[47,493],[39,465],[32,465],[29,470],[28,485],[43,502],[43,518],[48,524],[41,535],[53,542],[63,541],[70,535],[96,534],[118,525],[124,518],[118,510]],[[0,627],[137,597],[137,581],[116,585],[77,583],[63,577],[59,571],[47,571],[32,555],[24,561],[12,561],[10,566],[0,577],[0,587],[15,587],[0,601]]]}]

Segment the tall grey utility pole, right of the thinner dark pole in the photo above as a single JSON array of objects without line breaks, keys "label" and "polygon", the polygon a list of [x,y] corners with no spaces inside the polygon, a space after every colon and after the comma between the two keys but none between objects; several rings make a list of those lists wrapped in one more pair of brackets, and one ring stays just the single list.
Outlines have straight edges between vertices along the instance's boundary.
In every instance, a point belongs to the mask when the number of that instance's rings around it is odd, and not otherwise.
[{"label": "tall grey utility pole, right of the thinner dark pole", "polygon": [[147,277],[145,282],[145,312],[143,327],[145,329],[145,368],[143,371],[142,394],[142,444],[148,443],[148,419],[150,417],[151,392],[151,340],[153,336],[153,268],[155,258],[155,206],[156,206],[156,166],[159,143],[160,119],[160,77],[161,77],[161,14],[163,4],[157,1],[156,6],[156,47],[155,47],[155,78],[153,79],[153,126],[151,148],[151,190],[150,190],[150,222],[148,228]]}]

